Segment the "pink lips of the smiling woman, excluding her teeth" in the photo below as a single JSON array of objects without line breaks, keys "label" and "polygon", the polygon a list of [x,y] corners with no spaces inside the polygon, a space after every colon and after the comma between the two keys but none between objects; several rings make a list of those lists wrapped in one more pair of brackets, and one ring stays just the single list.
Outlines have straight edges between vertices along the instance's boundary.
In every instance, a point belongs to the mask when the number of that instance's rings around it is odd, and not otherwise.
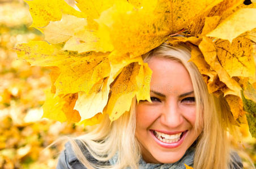
[{"label": "pink lips of the smiling woman, excluding her teeth", "polygon": [[[155,131],[158,131],[158,132],[163,132],[164,134],[177,134],[177,133],[180,133],[181,131],[178,131],[178,132],[166,132],[166,131],[159,131],[159,130],[155,130]],[[183,132],[182,134],[182,137],[180,140],[178,140],[177,142],[174,142],[174,143],[164,143],[163,141],[160,141],[156,138],[156,136],[153,134],[153,130],[150,130],[151,134],[152,134],[152,137],[153,139],[156,141],[157,144],[159,144],[161,147],[163,148],[169,148],[169,149],[172,149],[172,148],[177,148],[178,146],[180,146],[185,137],[186,137],[186,134],[187,134],[187,130]]]}]

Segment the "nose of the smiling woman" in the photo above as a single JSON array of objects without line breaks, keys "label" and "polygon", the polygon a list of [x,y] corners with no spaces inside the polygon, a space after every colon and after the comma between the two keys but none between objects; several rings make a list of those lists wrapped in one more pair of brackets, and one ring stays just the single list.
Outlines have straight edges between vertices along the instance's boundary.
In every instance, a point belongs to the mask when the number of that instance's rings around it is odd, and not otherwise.
[{"label": "nose of the smiling woman", "polygon": [[164,106],[160,118],[161,123],[168,128],[178,128],[184,122],[181,109],[177,102],[172,101]]}]

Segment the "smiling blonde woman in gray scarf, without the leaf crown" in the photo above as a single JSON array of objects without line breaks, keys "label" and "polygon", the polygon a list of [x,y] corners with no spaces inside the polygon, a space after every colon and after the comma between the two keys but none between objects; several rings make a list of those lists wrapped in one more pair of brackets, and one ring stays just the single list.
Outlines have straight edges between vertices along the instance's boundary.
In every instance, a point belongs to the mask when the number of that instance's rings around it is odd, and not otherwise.
[{"label": "smiling blonde woman in gray scarf, without the leaf crown", "polygon": [[208,94],[184,45],[163,44],[144,55],[152,70],[151,103],[70,140],[57,168],[242,168],[231,152],[223,97]]}]

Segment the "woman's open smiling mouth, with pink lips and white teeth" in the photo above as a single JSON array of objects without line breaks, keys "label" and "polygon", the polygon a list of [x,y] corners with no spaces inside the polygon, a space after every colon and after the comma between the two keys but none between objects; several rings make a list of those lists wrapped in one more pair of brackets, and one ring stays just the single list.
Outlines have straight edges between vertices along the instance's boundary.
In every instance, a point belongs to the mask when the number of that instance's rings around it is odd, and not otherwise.
[{"label": "woman's open smiling mouth, with pink lips and white teeth", "polygon": [[153,134],[156,142],[161,146],[164,146],[165,148],[176,148],[182,144],[187,130],[183,132],[176,132],[174,134],[166,134],[163,132],[151,130],[151,133]]}]

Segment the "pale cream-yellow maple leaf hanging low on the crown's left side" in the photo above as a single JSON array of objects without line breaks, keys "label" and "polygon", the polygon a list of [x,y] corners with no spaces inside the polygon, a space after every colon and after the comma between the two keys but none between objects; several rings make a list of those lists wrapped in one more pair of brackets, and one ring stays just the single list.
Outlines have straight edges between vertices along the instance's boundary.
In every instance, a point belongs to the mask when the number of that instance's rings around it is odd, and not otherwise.
[{"label": "pale cream-yellow maple leaf hanging low on the crown's left side", "polygon": [[95,116],[97,113],[103,113],[103,109],[108,102],[109,86],[108,78],[97,82],[88,94],[79,92],[75,108],[78,110],[81,121]]}]

